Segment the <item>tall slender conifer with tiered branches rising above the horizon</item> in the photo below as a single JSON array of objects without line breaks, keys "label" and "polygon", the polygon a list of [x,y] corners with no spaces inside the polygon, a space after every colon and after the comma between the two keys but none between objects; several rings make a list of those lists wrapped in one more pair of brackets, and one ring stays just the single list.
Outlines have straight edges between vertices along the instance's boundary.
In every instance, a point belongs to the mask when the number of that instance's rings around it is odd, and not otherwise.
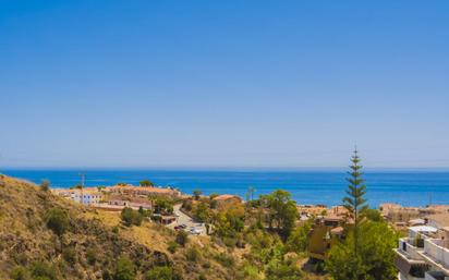
[{"label": "tall slender conifer with tiered branches rising above the horizon", "polygon": [[359,243],[359,223],[360,223],[360,212],[366,210],[366,199],[364,195],[366,194],[366,185],[365,180],[362,179],[362,166],[360,166],[361,159],[359,157],[359,151],[355,148],[354,155],[351,158],[352,165],[350,166],[349,178],[347,179],[349,182],[347,194],[343,198],[343,206],[348,209],[350,217],[354,219],[354,228],[353,228],[353,242],[354,242],[354,254],[357,255],[357,243]]}]

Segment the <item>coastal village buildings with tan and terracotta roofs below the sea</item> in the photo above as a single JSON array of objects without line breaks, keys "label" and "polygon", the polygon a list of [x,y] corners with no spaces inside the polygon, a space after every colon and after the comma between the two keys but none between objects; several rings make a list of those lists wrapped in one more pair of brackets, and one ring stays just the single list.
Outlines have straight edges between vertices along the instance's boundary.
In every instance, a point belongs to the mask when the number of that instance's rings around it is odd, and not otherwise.
[{"label": "coastal village buildings with tan and terracotta roofs below the sea", "polygon": [[[149,181],[143,181],[149,182]],[[122,211],[124,208],[151,212],[150,220],[173,230],[185,230],[195,235],[209,235],[215,230],[207,220],[207,211],[243,209],[244,202],[235,195],[182,194],[173,187],[117,184],[109,187],[53,188],[54,194],[76,203],[105,211]],[[167,202],[169,205],[167,206]],[[206,207],[207,206],[207,207]],[[306,252],[308,261],[326,260],[328,252],[345,239],[353,227],[348,209],[343,206],[296,205],[296,226],[310,224]],[[203,212],[202,212],[203,211]],[[238,210],[236,210],[238,211]],[[381,219],[403,233],[396,248],[395,266],[400,280],[446,280],[449,276],[449,206],[404,207],[381,204],[372,212],[372,219]]]}]

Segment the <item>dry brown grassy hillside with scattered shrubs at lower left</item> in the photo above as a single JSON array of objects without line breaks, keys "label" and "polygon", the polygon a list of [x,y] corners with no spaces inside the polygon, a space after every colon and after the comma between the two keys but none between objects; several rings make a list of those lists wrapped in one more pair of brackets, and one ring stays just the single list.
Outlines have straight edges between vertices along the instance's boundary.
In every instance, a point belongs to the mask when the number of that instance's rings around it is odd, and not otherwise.
[{"label": "dry brown grassy hillside with scattered shrubs at lower left", "polygon": [[[227,253],[209,238],[191,236],[170,253],[175,234],[159,224],[126,228],[118,214],[0,176],[0,279],[129,279],[120,278],[126,266],[132,279],[158,279],[160,271],[169,271],[167,279],[235,279],[232,265],[221,265]],[[52,209],[69,217],[62,234],[49,229]]]}]

